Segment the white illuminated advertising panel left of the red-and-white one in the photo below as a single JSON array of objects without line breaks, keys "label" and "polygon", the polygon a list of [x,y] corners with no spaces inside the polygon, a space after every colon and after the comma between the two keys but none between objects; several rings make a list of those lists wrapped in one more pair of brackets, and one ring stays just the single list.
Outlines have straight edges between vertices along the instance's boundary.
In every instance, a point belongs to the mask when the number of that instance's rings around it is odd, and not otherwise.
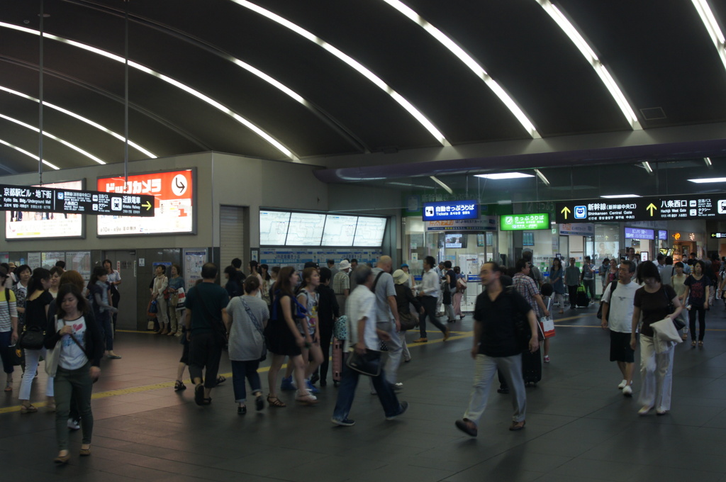
[{"label": "white illuminated advertising panel left of the red-and-white one", "polygon": [[[44,184],[43,187],[80,191],[83,189],[83,181],[56,182]],[[28,240],[45,237],[83,237],[83,216],[78,213],[48,211],[5,212],[5,239]]]}]

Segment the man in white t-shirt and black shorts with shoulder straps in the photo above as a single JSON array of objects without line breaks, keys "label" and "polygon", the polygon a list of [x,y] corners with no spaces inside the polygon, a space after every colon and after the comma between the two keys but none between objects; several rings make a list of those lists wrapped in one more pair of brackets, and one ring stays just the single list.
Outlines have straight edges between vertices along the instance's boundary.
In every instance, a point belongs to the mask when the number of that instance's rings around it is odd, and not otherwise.
[{"label": "man in white t-shirt and black shorts with shoulder straps", "polygon": [[[623,380],[618,385],[624,396],[632,396],[635,350],[630,348],[633,300],[640,286],[632,281],[635,263],[623,261],[618,268],[618,281],[611,282],[603,293],[603,330],[610,329],[610,361],[618,362]],[[614,290],[613,290],[614,288]]]}]

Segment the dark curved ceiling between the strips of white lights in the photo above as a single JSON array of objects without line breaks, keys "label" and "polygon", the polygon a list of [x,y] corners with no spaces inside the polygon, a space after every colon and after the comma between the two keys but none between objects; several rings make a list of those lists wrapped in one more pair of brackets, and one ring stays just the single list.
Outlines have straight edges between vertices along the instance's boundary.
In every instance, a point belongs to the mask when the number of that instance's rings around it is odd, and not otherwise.
[{"label": "dark curved ceiling between the strips of white lights", "polygon": [[[632,131],[595,70],[540,5],[546,1],[404,4],[473,57],[542,138]],[[726,68],[691,1],[554,3],[619,83],[646,131],[726,122]],[[726,2],[709,4],[725,25]],[[255,5],[319,40],[253,11]],[[121,135],[123,63],[67,41],[123,58],[128,8],[129,60],[153,71],[129,68],[129,139],[157,157],[214,150],[314,162],[532,138],[481,78],[383,0],[45,0],[42,6],[48,15],[43,30],[51,35],[42,44],[44,100]],[[36,128],[41,43],[13,27],[37,33],[40,8],[40,0],[0,2],[0,115]],[[436,139],[386,91],[320,44],[378,75],[446,140]],[[195,89],[217,107],[170,81]],[[58,110],[43,112],[44,131],[106,163],[123,161],[120,140]],[[230,113],[269,134],[290,155]],[[0,141],[37,155],[37,132],[7,118],[0,118]],[[47,136],[43,155],[60,168],[95,163]],[[129,149],[130,160],[149,157]],[[0,144],[0,168],[36,171],[37,161]]]}]

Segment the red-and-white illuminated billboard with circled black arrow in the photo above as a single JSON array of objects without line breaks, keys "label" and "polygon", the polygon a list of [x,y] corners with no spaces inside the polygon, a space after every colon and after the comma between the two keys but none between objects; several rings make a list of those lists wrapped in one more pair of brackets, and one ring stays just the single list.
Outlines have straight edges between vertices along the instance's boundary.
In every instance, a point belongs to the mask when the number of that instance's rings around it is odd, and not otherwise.
[{"label": "red-and-white illuminated billboard with circled black arrow", "polygon": [[134,174],[125,184],[123,176],[98,179],[99,191],[151,195],[155,208],[154,216],[149,218],[98,216],[98,235],[193,233],[194,178],[194,171],[186,169]]}]

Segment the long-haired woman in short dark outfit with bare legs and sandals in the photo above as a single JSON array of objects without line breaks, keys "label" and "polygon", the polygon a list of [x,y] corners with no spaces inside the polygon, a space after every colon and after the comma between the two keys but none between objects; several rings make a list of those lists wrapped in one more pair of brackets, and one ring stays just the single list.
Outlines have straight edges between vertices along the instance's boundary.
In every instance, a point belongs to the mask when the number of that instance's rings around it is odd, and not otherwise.
[{"label": "long-haired woman in short dark outfit with bare legs and sandals", "polygon": [[[298,284],[298,274],[293,266],[280,269],[277,282],[272,286],[273,302],[270,321],[265,329],[267,349],[272,353],[272,362],[267,372],[269,394],[267,403],[270,407],[285,407],[277,398],[277,374],[280,372],[285,356],[295,367],[295,382],[298,394],[295,400],[303,404],[317,404],[317,397],[305,388],[305,363],[302,357],[302,348],[305,347],[306,338],[298,330],[295,317],[303,316],[300,303],[295,299],[295,285]],[[307,347],[309,348],[309,347]]]}]

